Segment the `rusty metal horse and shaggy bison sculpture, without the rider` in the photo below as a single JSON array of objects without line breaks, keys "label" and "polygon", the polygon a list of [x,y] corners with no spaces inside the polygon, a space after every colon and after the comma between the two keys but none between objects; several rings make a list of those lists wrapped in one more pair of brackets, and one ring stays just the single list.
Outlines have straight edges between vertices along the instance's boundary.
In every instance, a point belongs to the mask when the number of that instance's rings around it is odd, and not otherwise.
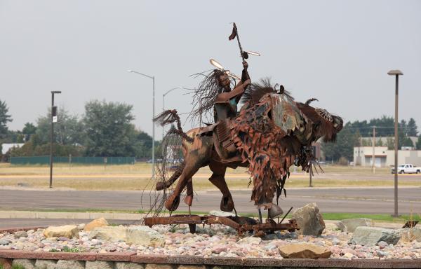
[{"label": "rusty metal horse and shaggy bison sculpture, without the rider", "polygon": [[[295,102],[288,92],[276,90],[269,80],[253,83],[242,97],[243,106],[234,118],[225,124],[215,123],[183,132],[177,111],[163,111],[154,120],[161,125],[177,123],[168,135],[182,138],[183,162],[169,179],[162,173],[156,190],[170,187],[177,179],[173,192],[165,197],[165,207],[170,212],[178,208],[180,195],[186,189],[184,202],[193,202],[192,177],[201,168],[208,166],[213,172],[209,181],[222,193],[220,209],[235,211],[234,200],[225,182],[227,167],[248,167],[253,179],[251,200],[258,207],[268,209],[269,218],[282,214],[276,202],[286,179],[289,167],[299,165],[309,171],[314,156],[312,142],[323,137],[325,142],[334,142],[342,129],[342,118],[324,109],[314,108],[309,99],[305,103]],[[165,144],[165,143],[164,143]],[[235,211],[236,212],[236,211]]]}]

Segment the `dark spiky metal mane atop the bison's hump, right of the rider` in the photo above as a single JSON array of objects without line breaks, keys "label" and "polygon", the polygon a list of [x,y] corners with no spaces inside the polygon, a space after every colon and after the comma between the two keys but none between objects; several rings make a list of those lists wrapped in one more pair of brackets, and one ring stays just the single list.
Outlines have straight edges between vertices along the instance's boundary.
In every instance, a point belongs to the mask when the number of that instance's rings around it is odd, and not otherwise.
[{"label": "dark spiky metal mane atop the bison's hump, right of the rider", "polygon": [[[241,97],[241,102],[250,102],[251,104],[256,104],[267,93],[280,93],[278,90],[275,89],[275,87],[276,84],[272,85],[270,78],[260,78],[258,82],[251,83],[248,86],[246,91],[243,93],[243,97]],[[286,95],[286,97],[288,97],[291,100],[294,99],[290,95],[290,92],[286,90],[283,90],[283,95]]]}]

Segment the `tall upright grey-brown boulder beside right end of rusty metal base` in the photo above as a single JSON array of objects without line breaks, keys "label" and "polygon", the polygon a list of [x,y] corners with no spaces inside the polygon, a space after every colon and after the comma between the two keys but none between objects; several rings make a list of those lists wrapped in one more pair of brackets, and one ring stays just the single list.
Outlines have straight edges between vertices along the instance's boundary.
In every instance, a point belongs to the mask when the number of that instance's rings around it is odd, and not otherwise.
[{"label": "tall upright grey-brown boulder beside right end of rusty metal base", "polygon": [[324,228],[326,228],[323,216],[321,216],[319,207],[317,207],[315,202],[295,210],[291,219],[297,221],[298,227],[300,228],[300,230],[297,230],[297,233],[302,235],[319,236],[323,233]]}]

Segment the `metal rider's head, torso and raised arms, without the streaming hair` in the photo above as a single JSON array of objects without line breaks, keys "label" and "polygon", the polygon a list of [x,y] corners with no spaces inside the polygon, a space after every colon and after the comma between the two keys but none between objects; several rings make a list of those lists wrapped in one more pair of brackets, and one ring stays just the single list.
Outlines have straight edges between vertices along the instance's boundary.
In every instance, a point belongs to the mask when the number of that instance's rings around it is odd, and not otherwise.
[{"label": "metal rider's head, torso and raised arms, without the streaming hair", "polygon": [[219,93],[215,99],[215,123],[218,123],[219,120],[234,118],[236,116],[237,105],[247,86],[251,82],[247,68],[247,62],[243,61],[241,81],[236,85],[234,90],[231,90],[231,81],[225,72],[221,72],[218,77],[218,83],[224,91]]}]

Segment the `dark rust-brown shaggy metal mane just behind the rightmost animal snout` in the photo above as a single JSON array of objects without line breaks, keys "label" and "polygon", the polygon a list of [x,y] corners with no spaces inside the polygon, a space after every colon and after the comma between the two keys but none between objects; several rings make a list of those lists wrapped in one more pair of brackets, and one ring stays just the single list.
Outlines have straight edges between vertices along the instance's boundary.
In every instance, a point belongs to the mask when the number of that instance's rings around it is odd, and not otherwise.
[{"label": "dark rust-brown shaggy metal mane just behind the rightmost animal snout", "polygon": [[[309,99],[311,101],[314,101],[314,99]],[[317,132],[314,134],[315,137],[323,137],[323,142],[335,142],[336,141],[336,134],[338,133],[338,130],[333,127],[333,123],[330,122],[327,118],[321,116],[317,109],[315,109],[313,106],[310,106],[309,100],[305,104],[297,102],[298,109],[309,119],[312,121],[313,125],[321,125],[318,128],[313,128],[313,130],[317,130]],[[327,112],[327,111],[326,111]],[[330,117],[332,117],[329,114]]]}]

